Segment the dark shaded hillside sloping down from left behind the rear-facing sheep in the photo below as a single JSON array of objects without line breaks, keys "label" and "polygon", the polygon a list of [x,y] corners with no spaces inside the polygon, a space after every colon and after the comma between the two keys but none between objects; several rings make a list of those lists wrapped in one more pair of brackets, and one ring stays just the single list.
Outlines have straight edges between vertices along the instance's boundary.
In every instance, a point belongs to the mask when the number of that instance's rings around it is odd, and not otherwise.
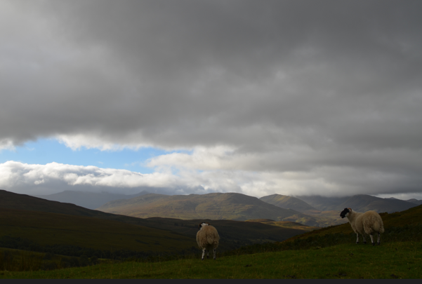
[{"label": "dark shaded hillside sloping down from left behind the rear-facing sheep", "polygon": [[[93,245],[110,250],[159,250],[154,243],[173,244],[176,250],[196,250],[197,226],[204,219],[128,217],[90,210],[70,203],[0,190],[0,239],[5,236],[35,243]],[[220,250],[241,245],[283,241],[303,230],[232,220],[209,220],[221,236]],[[138,240],[138,241],[136,241]],[[176,240],[176,241],[175,241]],[[177,240],[182,243],[177,243]],[[136,243],[133,243],[136,242]],[[145,246],[140,245],[147,245]],[[166,250],[166,245],[162,250]],[[168,252],[172,250],[166,250]],[[174,251],[174,250],[173,250]]]}]

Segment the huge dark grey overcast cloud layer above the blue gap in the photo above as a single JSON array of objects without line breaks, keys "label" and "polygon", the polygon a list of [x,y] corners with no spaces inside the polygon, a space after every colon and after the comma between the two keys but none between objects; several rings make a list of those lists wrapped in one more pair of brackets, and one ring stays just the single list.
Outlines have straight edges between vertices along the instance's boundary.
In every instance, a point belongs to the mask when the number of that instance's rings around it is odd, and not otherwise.
[{"label": "huge dark grey overcast cloud layer above the blue gap", "polygon": [[228,145],[253,170],[343,167],[324,178],[346,187],[363,168],[417,190],[420,1],[8,3],[1,144]]}]

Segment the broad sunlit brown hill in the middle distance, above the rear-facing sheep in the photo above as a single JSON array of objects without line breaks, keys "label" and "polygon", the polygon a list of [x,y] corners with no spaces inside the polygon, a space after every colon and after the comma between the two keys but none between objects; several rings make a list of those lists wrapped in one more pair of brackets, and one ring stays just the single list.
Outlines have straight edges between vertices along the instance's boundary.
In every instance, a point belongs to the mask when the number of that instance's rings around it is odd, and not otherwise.
[{"label": "broad sunlit brown hill in the middle distance, above the rear-facing sheep", "polygon": [[174,196],[147,194],[131,199],[111,201],[97,210],[142,218],[168,217],[239,221],[264,218],[282,221],[293,215],[308,217],[301,212],[279,208],[256,197],[236,193]]}]

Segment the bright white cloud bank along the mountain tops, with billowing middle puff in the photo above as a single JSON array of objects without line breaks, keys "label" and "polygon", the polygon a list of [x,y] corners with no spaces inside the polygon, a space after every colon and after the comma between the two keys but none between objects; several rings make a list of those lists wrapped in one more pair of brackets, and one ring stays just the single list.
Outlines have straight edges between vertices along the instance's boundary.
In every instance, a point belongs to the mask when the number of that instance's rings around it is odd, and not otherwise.
[{"label": "bright white cloud bank along the mountain tops, with billowing middle puff", "polygon": [[268,156],[236,154],[229,147],[201,147],[194,149],[192,154],[173,153],[151,158],[147,163],[155,169],[151,174],[95,166],[29,165],[8,161],[0,164],[0,188],[24,194],[53,194],[64,190],[134,194],[148,188],[148,191],[155,189],[163,194],[238,192],[261,197],[270,194],[352,196],[381,193],[422,199],[420,176],[409,177],[397,170],[377,172],[369,170],[370,165],[362,168],[310,165],[307,170],[265,170],[268,167],[265,163],[279,158],[285,157],[277,153]]}]

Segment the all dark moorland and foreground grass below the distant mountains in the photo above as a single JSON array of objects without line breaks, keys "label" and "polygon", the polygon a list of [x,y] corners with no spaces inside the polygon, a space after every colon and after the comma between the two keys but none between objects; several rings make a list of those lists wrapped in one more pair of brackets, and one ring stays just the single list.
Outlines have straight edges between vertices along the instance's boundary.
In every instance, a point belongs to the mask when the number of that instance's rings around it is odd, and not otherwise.
[{"label": "all dark moorland and foreground grass below the distant mountains", "polygon": [[375,246],[355,244],[348,223],[211,218],[217,259],[201,261],[194,237],[203,219],[131,217],[0,191],[0,278],[421,278],[422,205],[380,213],[385,233]]}]

